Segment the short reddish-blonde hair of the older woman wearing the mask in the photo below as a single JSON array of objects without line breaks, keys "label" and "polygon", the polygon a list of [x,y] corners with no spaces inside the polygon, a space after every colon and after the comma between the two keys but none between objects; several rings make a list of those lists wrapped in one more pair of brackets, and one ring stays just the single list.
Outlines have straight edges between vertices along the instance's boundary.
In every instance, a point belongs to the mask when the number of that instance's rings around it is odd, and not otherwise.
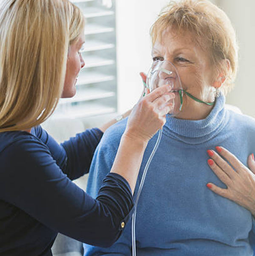
[{"label": "short reddish-blonde hair of the older woman wearing the mask", "polygon": [[[213,67],[226,77],[223,90],[227,93],[235,81],[238,45],[235,30],[225,12],[207,0],[171,1],[151,27],[152,45],[161,41],[163,32],[169,28],[191,32],[198,42],[206,45]],[[229,70],[223,60],[229,60]]]}]

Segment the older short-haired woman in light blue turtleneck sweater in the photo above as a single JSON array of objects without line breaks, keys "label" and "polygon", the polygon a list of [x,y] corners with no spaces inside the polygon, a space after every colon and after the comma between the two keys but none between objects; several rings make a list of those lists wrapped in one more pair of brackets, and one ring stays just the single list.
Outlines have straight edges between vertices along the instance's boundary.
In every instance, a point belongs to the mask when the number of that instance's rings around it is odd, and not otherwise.
[{"label": "older short-haired woman in light blue turtleneck sweater", "polygon": [[[207,149],[222,145],[242,161],[255,150],[255,120],[225,109],[224,93],[237,68],[234,29],[209,1],[181,0],[163,10],[151,35],[153,61],[175,65],[184,99],[178,116],[166,120],[140,195],[137,255],[252,256],[251,212],[206,187],[209,181],[223,186],[206,164]],[[88,186],[92,196],[111,169],[125,127],[123,120],[109,128],[96,149]],[[156,140],[146,148],[138,180]],[[129,222],[112,247],[85,244],[84,250],[86,256],[130,256],[131,247]]]}]

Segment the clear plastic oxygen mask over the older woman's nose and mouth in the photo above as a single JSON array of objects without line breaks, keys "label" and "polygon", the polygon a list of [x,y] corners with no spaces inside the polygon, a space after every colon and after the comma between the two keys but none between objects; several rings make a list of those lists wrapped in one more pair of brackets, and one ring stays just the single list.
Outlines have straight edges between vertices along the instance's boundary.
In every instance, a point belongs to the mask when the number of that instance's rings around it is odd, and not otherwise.
[{"label": "clear plastic oxygen mask over the older woman's nose and mouth", "polygon": [[171,116],[176,116],[182,108],[183,90],[181,87],[181,79],[178,72],[171,61],[153,61],[152,66],[147,75],[146,85],[150,92],[156,88],[169,84],[172,87],[171,92],[175,93],[172,99],[173,108],[169,112]]}]

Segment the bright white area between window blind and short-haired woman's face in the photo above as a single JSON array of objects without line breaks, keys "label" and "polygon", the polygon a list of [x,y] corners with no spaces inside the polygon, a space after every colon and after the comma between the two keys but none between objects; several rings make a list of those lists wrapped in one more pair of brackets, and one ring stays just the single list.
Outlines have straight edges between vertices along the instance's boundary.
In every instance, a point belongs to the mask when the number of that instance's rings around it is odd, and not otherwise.
[{"label": "bright white area between window blind and short-haired woman's face", "polygon": [[149,29],[169,0],[116,0],[118,111],[131,108],[143,83],[139,72],[151,64]]}]

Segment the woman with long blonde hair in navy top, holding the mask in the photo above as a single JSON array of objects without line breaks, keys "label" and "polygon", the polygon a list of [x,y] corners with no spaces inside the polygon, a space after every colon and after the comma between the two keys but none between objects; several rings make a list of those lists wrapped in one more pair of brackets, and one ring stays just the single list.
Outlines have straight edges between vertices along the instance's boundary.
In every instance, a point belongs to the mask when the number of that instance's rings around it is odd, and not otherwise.
[{"label": "woman with long blonde hair in navy top, holding the mask", "polygon": [[97,199],[72,183],[88,172],[109,124],[62,145],[40,124],[60,97],[75,94],[85,65],[83,27],[83,14],[68,0],[0,5],[0,255],[52,255],[58,232],[98,246],[116,241],[146,145],[171,110],[167,86],[138,102]]}]

